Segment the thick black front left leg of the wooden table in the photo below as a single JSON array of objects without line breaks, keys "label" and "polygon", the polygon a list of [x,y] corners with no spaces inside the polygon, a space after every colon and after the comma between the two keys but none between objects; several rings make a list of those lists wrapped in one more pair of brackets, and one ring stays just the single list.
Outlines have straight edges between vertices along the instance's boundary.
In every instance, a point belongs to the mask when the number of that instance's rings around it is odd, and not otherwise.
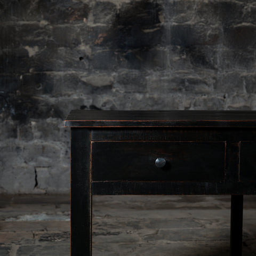
[{"label": "thick black front left leg of the wooden table", "polygon": [[92,255],[91,131],[71,128],[71,256]]}]

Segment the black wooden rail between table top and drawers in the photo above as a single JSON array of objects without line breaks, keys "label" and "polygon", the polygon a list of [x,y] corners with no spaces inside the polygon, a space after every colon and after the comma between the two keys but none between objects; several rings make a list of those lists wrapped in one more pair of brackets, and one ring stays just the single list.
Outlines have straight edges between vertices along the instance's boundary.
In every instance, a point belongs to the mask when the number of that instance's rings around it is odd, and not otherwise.
[{"label": "black wooden rail between table top and drawers", "polygon": [[93,128],[92,141],[256,141],[256,129],[241,129],[241,127]]}]

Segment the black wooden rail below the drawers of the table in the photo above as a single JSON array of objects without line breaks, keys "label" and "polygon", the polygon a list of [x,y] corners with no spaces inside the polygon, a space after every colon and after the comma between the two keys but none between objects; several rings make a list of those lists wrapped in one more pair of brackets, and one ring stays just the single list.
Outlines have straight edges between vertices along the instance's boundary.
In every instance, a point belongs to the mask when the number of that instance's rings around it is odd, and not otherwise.
[{"label": "black wooden rail below the drawers of the table", "polygon": [[255,195],[256,182],[92,182],[93,195]]}]

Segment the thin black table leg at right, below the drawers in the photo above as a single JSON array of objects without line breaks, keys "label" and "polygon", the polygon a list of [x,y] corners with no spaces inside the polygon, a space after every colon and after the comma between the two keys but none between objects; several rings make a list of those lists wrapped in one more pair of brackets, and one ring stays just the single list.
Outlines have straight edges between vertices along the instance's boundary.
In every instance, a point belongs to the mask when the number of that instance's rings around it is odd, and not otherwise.
[{"label": "thin black table leg at right, below the drawers", "polygon": [[230,255],[242,255],[243,195],[231,195]]}]

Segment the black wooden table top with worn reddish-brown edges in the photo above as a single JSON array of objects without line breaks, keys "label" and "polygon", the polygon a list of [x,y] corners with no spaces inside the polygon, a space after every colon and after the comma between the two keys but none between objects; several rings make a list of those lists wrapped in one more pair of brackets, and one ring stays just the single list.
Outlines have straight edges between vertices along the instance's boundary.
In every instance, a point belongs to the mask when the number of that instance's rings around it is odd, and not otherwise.
[{"label": "black wooden table top with worn reddish-brown edges", "polygon": [[256,127],[256,111],[71,110],[66,127]]}]

